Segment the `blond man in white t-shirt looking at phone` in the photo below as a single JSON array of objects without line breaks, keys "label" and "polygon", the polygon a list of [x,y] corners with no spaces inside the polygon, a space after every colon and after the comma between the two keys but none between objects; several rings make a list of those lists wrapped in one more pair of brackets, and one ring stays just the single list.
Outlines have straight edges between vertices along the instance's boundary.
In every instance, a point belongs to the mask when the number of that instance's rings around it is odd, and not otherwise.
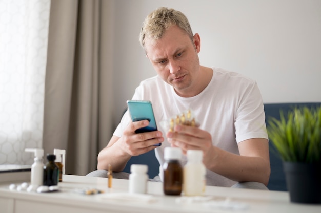
[{"label": "blond man in white t-shirt looking at phone", "polygon": [[[262,97],[255,81],[222,69],[200,66],[200,36],[186,16],[158,8],[147,16],[140,42],[157,76],[136,88],[132,99],[150,100],[155,119],[191,109],[199,126],[176,125],[173,132],[136,134],[148,121],[131,122],[128,112],[108,145],[98,154],[98,169],[121,172],[132,156],[155,150],[160,165],[164,148],[202,150],[207,185],[266,188],[270,176],[269,146]],[[159,126],[159,125],[158,125]],[[161,142],[161,146],[154,146]],[[186,163],[186,156],[182,160]],[[162,179],[162,178],[161,178]]]}]

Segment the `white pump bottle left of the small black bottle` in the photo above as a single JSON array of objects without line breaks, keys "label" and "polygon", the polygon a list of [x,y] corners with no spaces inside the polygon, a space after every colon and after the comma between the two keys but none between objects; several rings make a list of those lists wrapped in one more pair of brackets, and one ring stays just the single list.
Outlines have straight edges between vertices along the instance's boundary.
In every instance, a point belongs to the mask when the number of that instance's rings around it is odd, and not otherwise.
[{"label": "white pump bottle left of the small black bottle", "polygon": [[42,148],[26,148],[25,151],[34,153],[34,163],[31,165],[31,184],[27,190],[35,191],[44,183],[44,150]]}]

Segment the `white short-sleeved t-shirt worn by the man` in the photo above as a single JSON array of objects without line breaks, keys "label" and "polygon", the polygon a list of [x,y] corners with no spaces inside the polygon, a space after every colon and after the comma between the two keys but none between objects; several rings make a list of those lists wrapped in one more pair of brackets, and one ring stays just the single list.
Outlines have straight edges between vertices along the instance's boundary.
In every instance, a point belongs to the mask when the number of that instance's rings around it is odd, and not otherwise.
[{"label": "white short-sleeved t-shirt worn by the man", "polygon": [[[228,152],[239,154],[237,143],[247,139],[268,139],[262,96],[256,82],[238,73],[219,68],[212,69],[210,83],[194,97],[178,96],[173,87],[157,75],[142,81],[132,99],[152,102],[158,130],[163,131],[164,135],[167,130],[160,127],[160,121],[191,109],[199,128],[211,134],[213,145]],[[127,111],[114,135],[122,137],[129,122],[130,116]],[[162,145],[155,149],[160,165],[165,163],[166,146],[170,144],[165,137]],[[185,165],[186,162],[184,156],[182,164]],[[230,187],[235,183],[207,169],[207,185]]]}]

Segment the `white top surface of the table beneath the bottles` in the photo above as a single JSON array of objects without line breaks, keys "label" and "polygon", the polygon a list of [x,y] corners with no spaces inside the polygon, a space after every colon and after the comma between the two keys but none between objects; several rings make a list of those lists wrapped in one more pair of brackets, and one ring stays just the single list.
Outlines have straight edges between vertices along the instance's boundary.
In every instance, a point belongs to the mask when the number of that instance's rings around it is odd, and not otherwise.
[{"label": "white top surface of the table beneath the bottles", "polygon": [[[165,196],[163,183],[148,182],[147,194],[129,194],[128,180],[64,175],[60,190],[36,193],[10,190],[0,185],[0,198],[59,203],[115,212],[321,212],[321,205],[291,203],[288,192],[207,186],[202,197]],[[85,195],[78,189],[99,189],[101,194]],[[1,207],[0,207],[1,209]]]}]

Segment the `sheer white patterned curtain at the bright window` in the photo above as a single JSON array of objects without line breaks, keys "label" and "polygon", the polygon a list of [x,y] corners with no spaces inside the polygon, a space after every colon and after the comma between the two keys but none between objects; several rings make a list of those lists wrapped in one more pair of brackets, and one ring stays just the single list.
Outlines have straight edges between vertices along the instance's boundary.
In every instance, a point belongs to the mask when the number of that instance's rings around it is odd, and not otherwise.
[{"label": "sheer white patterned curtain at the bright window", "polygon": [[42,148],[50,0],[0,0],[0,164]]}]

